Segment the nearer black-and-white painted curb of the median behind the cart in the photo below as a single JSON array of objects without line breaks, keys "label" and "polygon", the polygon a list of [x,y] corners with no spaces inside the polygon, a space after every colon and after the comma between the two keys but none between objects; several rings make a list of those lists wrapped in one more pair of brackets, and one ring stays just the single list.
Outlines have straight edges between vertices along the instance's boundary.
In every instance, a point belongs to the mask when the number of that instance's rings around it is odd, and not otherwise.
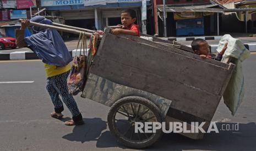
[{"label": "nearer black-and-white painted curb of the median behind the cart", "polygon": [[[187,45],[187,47],[191,47],[191,45]],[[210,45],[210,53],[217,53],[218,44],[211,44]],[[246,47],[251,52],[256,52],[256,43],[245,43],[244,47]],[[72,57],[75,56],[76,49],[69,51]],[[80,49],[78,49],[77,54],[80,53]],[[86,55],[88,51],[85,52]],[[14,53],[0,53],[0,60],[32,60],[32,59],[39,59],[34,52],[29,51],[16,51]]]}]

